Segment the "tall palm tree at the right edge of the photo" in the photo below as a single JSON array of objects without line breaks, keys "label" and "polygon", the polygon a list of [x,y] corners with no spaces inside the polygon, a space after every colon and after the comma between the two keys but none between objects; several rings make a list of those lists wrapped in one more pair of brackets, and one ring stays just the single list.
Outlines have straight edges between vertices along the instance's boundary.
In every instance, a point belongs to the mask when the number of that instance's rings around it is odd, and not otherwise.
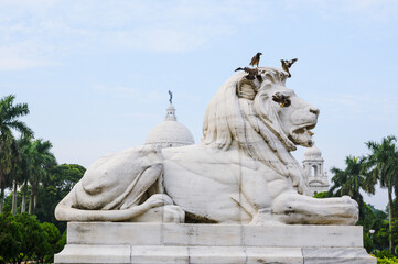
[{"label": "tall palm tree at the right edge of the photo", "polygon": [[[367,156],[368,175],[378,179],[381,188],[388,190],[388,220],[389,231],[392,230],[392,190],[398,193],[398,148],[395,145],[396,136],[383,138],[381,143],[374,141],[366,142],[366,146],[372,151]],[[389,250],[392,252],[392,238],[389,235]]]}]

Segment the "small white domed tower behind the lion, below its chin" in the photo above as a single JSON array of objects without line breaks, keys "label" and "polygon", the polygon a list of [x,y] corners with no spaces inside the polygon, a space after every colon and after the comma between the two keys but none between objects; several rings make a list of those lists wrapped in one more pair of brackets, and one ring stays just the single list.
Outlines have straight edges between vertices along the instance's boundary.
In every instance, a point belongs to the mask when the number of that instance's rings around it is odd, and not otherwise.
[{"label": "small white domed tower behind the lion, below its chin", "polygon": [[315,145],[305,150],[302,163],[312,196],[329,190],[330,184],[327,174],[323,170],[323,162],[322,153]]}]

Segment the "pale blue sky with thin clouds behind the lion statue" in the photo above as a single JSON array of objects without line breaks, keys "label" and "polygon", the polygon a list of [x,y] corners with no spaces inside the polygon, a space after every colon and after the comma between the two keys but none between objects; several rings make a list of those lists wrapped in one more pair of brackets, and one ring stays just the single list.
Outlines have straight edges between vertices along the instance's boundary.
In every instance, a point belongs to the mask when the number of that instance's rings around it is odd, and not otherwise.
[{"label": "pale blue sky with thin clouds behind the lion statue", "polygon": [[[22,120],[58,163],[87,167],[143,144],[168,90],[198,143],[235,68],[257,52],[260,66],[298,57],[287,87],[321,111],[325,168],[344,168],[398,135],[397,13],[396,0],[0,0],[0,97],[29,105]],[[387,194],[365,200],[385,209]]]}]

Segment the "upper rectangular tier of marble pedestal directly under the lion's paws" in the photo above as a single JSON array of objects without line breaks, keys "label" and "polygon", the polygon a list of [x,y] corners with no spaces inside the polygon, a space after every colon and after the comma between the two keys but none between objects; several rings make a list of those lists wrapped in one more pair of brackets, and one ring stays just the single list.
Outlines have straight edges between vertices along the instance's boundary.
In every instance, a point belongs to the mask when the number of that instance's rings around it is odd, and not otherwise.
[{"label": "upper rectangular tier of marble pedestal directly under the lion's paws", "polygon": [[69,222],[68,244],[363,248],[357,226]]}]

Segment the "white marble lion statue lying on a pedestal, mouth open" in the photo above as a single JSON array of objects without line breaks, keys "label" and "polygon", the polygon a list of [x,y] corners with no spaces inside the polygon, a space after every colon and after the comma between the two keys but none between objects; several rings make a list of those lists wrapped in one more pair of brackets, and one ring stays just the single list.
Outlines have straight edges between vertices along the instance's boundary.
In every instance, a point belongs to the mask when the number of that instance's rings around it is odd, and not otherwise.
[{"label": "white marble lion statue lying on a pedestal, mouth open", "polygon": [[[311,146],[319,110],[286,87],[288,74],[238,73],[209,102],[202,143],[144,145],[96,161],[60,202],[64,221],[354,224],[349,197],[309,197],[290,154]],[[288,98],[281,103],[275,98]]]}]

